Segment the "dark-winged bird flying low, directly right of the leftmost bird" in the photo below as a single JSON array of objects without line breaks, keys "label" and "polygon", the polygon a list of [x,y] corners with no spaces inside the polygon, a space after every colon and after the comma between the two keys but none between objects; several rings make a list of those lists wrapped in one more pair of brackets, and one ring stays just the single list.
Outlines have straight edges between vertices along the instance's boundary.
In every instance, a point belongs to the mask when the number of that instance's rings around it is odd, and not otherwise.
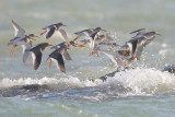
[{"label": "dark-winged bird flying low, directly right of the leftmost bird", "polygon": [[32,51],[33,66],[35,70],[39,68],[39,65],[42,62],[42,57],[43,57],[42,51],[44,51],[45,48],[48,46],[52,46],[52,45],[50,45],[49,43],[42,43],[42,44],[38,44],[36,46],[25,49],[26,52]]}]

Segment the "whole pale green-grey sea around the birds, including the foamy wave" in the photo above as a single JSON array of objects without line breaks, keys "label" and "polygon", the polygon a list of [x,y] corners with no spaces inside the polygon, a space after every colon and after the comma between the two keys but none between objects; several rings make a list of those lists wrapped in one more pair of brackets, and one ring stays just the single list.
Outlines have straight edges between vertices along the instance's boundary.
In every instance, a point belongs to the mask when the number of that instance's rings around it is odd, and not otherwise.
[{"label": "whole pale green-grey sea around the birds, including the foamy wave", "polygon": [[[175,1],[173,0],[9,0],[0,4],[0,116],[2,117],[173,117],[175,114],[175,77],[162,72],[174,63]],[[89,57],[89,48],[72,48],[72,61],[66,61],[63,74],[46,58],[37,71],[32,61],[22,62],[22,48],[10,57],[13,38],[11,20],[26,33],[39,34],[42,27],[63,22],[70,39],[74,32],[102,26],[119,44],[132,35],[129,32],[147,27],[158,36],[145,49],[136,69],[121,71],[107,81],[97,78],[113,72],[114,63],[104,55]],[[83,39],[83,38],[82,38]],[[35,44],[60,43],[39,38]],[[94,79],[95,82],[90,79]]]}]

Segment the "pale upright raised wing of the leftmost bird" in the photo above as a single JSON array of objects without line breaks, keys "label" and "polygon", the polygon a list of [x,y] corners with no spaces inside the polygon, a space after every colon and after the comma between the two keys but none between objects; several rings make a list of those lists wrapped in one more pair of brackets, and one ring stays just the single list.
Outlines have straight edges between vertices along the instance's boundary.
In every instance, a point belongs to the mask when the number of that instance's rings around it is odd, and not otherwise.
[{"label": "pale upright raised wing of the leftmost bird", "polygon": [[25,31],[12,20],[12,24],[14,27],[14,36],[21,37],[21,36],[25,36]]}]

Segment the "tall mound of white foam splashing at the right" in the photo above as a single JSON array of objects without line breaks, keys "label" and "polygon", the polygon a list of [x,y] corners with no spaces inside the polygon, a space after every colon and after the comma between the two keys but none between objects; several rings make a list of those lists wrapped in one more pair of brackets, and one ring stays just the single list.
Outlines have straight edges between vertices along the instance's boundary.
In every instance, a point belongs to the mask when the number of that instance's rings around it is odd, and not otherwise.
[{"label": "tall mound of white foam splashing at the right", "polygon": [[135,94],[159,93],[174,89],[175,77],[168,72],[162,72],[154,69],[133,69],[116,73],[115,77],[107,79],[103,85],[115,87],[120,84],[130,89]]}]

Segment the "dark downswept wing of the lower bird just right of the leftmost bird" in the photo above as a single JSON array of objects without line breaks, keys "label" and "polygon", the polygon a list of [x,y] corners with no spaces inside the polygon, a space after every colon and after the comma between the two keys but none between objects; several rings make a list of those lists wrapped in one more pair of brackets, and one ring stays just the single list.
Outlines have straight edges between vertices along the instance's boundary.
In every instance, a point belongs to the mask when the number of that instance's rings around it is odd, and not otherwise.
[{"label": "dark downswept wing of the lower bird just right of the leftmost bird", "polygon": [[32,51],[32,57],[33,57],[33,66],[34,69],[37,70],[39,68],[39,65],[42,62],[42,51],[37,50],[37,51]]}]

